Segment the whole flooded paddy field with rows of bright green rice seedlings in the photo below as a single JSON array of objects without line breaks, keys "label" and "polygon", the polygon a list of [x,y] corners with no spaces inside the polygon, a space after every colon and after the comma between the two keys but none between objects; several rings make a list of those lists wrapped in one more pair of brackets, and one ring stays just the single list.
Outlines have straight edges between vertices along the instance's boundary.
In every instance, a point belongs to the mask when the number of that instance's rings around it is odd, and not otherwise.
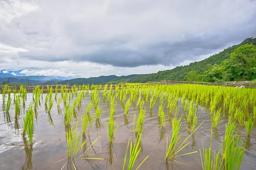
[{"label": "whole flooded paddy field with rows of bright green rice seedlings", "polygon": [[43,91],[3,87],[0,170],[256,169],[256,89],[120,84]]}]

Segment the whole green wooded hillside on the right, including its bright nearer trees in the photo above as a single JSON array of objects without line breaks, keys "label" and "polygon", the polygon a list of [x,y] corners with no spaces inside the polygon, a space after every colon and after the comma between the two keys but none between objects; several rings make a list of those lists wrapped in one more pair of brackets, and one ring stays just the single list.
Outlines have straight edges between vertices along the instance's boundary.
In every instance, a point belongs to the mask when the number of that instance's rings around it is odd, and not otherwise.
[{"label": "whole green wooded hillside on the right, including its bright nearer trees", "polygon": [[[255,46],[256,38],[247,38],[246,40],[241,42],[239,45],[233,45],[232,47],[228,47],[228,48],[224,49],[224,51],[221,51],[219,54],[214,54],[214,55],[210,56],[209,58],[204,59],[202,61],[192,62],[189,65],[185,65],[185,66],[178,66],[172,70],[158,71],[157,73],[150,74],[146,77],[141,77],[140,79],[133,79],[132,81],[129,81],[129,82],[160,82],[162,80],[197,81],[197,82],[200,82],[200,81],[218,82],[218,81],[235,81],[235,80],[242,81],[244,79],[247,79],[248,77],[243,77],[243,78],[239,79],[238,77],[235,78],[232,76],[232,77],[230,77],[230,79],[228,79],[230,72],[227,72],[227,74],[224,75],[223,65],[227,66],[228,64],[230,64],[230,62],[228,62],[230,60],[227,60],[227,59],[230,59],[231,53],[233,53],[237,48],[239,48],[243,45],[247,45],[247,44],[252,44]],[[245,46],[245,48],[250,48],[250,49],[247,49],[247,50],[240,49],[239,51],[236,52],[236,54],[234,54],[234,56],[235,55],[239,56],[240,55],[239,53],[243,53],[243,51],[247,53],[248,50],[253,50],[252,46],[250,46],[250,47]],[[252,51],[252,53],[253,53],[253,51]],[[246,54],[244,54],[244,55],[246,55]],[[252,55],[252,54],[250,54],[250,55]],[[245,58],[248,58],[248,57],[245,57]],[[224,64],[222,62],[224,62],[226,64]],[[239,60],[232,59],[231,62],[234,64],[235,62],[239,62]],[[251,62],[251,61],[248,60],[247,62]],[[219,69],[217,65],[221,65],[221,68],[223,68],[223,69],[219,70],[219,71],[223,72],[223,74],[216,71]],[[251,63],[251,65],[253,65],[253,63]],[[236,65],[236,67],[235,66],[234,67],[232,66],[232,67],[235,69],[239,66],[240,65]],[[244,67],[246,67],[246,65],[244,65]],[[220,74],[220,77],[218,77],[217,74],[214,75],[211,72],[213,72],[213,73],[218,72],[218,74]],[[236,73],[236,74],[239,74],[239,73]],[[242,74],[242,73],[240,73],[240,74]],[[254,74],[255,74],[255,72],[254,72]],[[251,78],[252,77],[250,77],[250,79]],[[247,79],[247,80],[250,80],[250,79]]]}]

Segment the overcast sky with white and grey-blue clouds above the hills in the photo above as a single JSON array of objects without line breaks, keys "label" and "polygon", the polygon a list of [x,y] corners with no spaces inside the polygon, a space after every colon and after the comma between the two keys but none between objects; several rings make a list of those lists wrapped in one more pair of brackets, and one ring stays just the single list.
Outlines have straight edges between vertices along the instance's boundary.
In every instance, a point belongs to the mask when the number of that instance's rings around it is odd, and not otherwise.
[{"label": "overcast sky with white and grey-blue clouds above the hills", "polygon": [[0,70],[95,77],[187,65],[256,37],[256,0],[0,0]]}]

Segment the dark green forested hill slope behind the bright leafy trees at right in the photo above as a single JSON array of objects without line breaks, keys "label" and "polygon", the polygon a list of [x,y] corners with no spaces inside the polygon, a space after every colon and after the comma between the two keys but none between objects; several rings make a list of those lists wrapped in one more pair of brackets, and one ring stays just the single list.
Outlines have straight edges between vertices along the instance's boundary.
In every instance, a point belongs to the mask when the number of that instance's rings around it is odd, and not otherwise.
[{"label": "dark green forested hill slope behind the bright leafy trees at right", "polygon": [[[178,66],[172,70],[158,71],[157,73],[150,74],[146,77],[140,77],[140,79],[132,79],[132,82],[160,82],[161,80],[188,81],[188,76],[191,73],[196,74],[197,76],[201,75],[202,77],[202,75],[207,74],[207,71],[211,69],[213,65],[220,65],[221,62],[223,62],[225,59],[230,58],[231,53],[233,53],[237,48],[245,44],[256,45],[256,38],[247,38],[239,45],[233,45],[232,47],[228,47],[227,49],[224,49],[224,51],[212,55],[202,61],[192,62],[189,65],[185,66]],[[212,79],[209,80],[200,77],[198,79],[195,79],[194,81],[214,82],[214,80]]]}]

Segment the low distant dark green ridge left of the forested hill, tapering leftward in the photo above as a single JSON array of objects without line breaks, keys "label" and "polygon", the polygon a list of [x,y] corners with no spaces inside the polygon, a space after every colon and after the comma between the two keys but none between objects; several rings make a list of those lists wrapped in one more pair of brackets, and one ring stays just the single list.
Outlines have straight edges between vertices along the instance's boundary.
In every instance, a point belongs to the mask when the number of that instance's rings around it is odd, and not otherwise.
[{"label": "low distant dark green ridge left of the forested hill, tapering leftward", "polygon": [[58,85],[83,85],[83,84],[117,84],[120,82],[129,82],[133,81],[133,79],[139,79],[140,77],[145,77],[148,76],[148,74],[133,74],[133,75],[128,75],[128,76],[115,76],[115,75],[110,75],[110,76],[100,76],[100,77],[90,77],[90,78],[76,78],[76,79],[70,79],[70,80],[64,80],[64,81],[49,81],[49,82],[44,82],[44,84],[48,85],[54,85],[57,83]]}]

